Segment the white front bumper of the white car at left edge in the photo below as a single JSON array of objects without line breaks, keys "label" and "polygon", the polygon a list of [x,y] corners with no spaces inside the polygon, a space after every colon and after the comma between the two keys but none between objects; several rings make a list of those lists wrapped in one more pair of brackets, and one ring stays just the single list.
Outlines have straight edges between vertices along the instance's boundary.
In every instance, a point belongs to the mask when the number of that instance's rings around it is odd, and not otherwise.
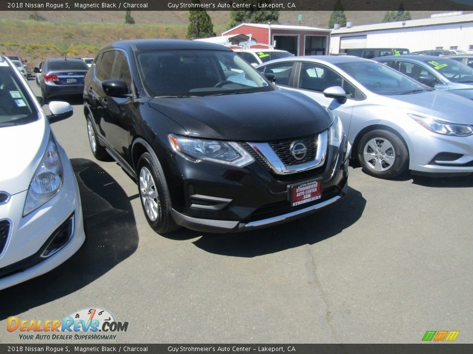
[{"label": "white front bumper of the white car at left edge", "polygon": [[[61,265],[85,241],[77,181],[65,151],[60,146],[58,150],[64,168],[64,183],[56,196],[25,217],[23,208],[27,191],[12,195],[0,206],[0,219],[8,219],[10,223],[10,231],[0,252],[0,290]],[[51,239],[67,228],[70,228],[70,235],[62,248],[49,257],[41,257]]]}]

